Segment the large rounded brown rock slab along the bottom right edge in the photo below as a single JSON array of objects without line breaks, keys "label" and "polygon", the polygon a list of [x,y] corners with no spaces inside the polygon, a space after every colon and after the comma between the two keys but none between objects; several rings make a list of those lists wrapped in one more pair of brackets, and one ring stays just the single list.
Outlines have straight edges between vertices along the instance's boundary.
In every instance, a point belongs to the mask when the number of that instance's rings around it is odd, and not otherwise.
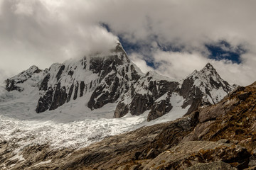
[{"label": "large rounded brown rock slab along the bottom right edge", "polygon": [[[250,153],[239,145],[221,142],[191,141],[159,154],[144,169],[186,169],[199,162],[247,162]],[[235,165],[234,164],[234,165]]]}]

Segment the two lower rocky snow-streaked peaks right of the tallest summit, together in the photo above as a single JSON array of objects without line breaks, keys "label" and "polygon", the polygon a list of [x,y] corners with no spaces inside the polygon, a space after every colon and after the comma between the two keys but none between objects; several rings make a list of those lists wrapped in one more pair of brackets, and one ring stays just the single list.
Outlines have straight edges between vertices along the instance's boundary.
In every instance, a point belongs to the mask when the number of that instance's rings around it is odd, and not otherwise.
[{"label": "two lower rocky snow-streaked peaks right of the tallest summit, together", "polygon": [[176,100],[172,100],[174,96],[182,98],[181,108],[186,109],[188,115],[198,107],[218,103],[233,89],[210,63],[182,81],[148,72],[124,95],[114,115],[117,118],[128,112],[140,115],[149,110],[147,120],[154,120],[171,111],[176,105]]}]

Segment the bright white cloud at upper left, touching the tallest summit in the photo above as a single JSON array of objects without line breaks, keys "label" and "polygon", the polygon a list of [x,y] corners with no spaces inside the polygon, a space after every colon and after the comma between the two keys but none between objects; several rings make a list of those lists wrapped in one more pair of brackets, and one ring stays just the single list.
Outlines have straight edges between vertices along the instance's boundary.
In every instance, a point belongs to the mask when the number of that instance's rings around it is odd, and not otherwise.
[{"label": "bright white cloud at upper left, touching the tallest summit", "polygon": [[117,36],[87,20],[89,16],[76,18],[79,11],[70,10],[67,3],[1,1],[0,68],[14,74],[32,64],[44,69],[116,45]]}]

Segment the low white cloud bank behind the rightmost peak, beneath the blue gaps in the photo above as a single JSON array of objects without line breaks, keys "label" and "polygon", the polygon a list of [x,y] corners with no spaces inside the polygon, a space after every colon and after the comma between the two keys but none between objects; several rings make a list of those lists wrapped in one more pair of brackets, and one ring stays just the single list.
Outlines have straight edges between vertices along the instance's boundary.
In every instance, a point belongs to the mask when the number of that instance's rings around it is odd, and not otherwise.
[{"label": "low white cloud bank behind the rightmost peak, beneath the blue gaps", "polygon": [[[247,57],[255,59],[254,56]],[[252,60],[237,64],[229,60],[210,60],[198,53],[162,51],[156,52],[154,59],[159,63],[156,72],[172,79],[184,79],[193,70],[200,70],[210,62],[220,74],[220,77],[230,84],[246,86],[256,80],[255,69],[253,69],[255,62],[252,62]]]}]

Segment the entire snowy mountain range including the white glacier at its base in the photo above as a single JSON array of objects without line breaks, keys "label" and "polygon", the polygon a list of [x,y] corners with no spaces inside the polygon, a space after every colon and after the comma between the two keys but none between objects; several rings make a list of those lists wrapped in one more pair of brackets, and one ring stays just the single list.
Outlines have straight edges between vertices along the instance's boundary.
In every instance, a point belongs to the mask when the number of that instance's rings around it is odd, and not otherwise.
[{"label": "entire snowy mountain range including the white glacier at its base", "polygon": [[32,66],[0,84],[0,142],[14,146],[14,157],[28,145],[85,147],[181,118],[232,89],[210,64],[179,81],[143,74],[117,44],[107,54]]}]

